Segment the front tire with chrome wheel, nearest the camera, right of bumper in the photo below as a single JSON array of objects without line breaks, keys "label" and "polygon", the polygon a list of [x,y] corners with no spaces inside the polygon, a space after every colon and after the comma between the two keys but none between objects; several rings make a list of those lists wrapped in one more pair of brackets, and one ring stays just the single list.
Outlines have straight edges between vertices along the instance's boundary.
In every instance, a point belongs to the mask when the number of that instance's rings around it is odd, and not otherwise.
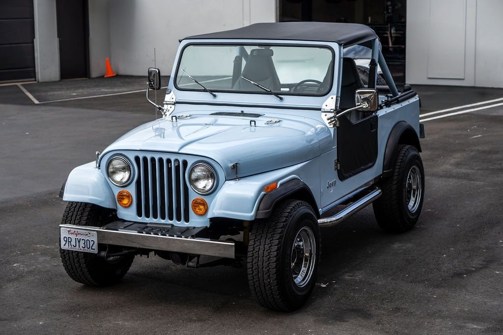
[{"label": "front tire with chrome wheel, nearest the camera, right of bumper", "polygon": [[320,233],[305,201],[286,200],[251,229],[247,255],[251,294],[266,308],[292,311],[311,294],[318,269]]}]

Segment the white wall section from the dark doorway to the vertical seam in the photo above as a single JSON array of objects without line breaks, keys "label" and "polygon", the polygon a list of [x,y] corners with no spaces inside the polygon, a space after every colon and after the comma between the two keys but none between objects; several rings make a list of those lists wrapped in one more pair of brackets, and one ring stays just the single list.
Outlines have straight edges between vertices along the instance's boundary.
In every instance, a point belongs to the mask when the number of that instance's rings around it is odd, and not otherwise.
[{"label": "white wall section from the dark doorway to the vertical seam", "polygon": [[475,85],[476,2],[407,0],[407,83]]}]

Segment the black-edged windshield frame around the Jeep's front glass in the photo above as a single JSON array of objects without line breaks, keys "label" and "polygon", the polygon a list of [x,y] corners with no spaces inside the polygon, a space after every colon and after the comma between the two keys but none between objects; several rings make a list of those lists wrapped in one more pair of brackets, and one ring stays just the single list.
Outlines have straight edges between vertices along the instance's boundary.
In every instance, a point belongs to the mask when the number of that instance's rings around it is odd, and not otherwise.
[{"label": "black-edged windshield frame around the Jeep's front glass", "polygon": [[[184,51],[187,47],[193,46],[193,45],[208,45],[208,46],[220,46],[220,45],[230,45],[230,46],[279,46],[279,47],[303,47],[303,48],[323,48],[327,49],[331,53],[331,62],[332,62],[332,72],[330,76],[330,83],[328,85],[328,88],[325,92],[323,93],[318,93],[318,94],[302,94],[302,93],[293,93],[293,92],[286,92],[286,91],[273,91],[276,94],[280,95],[285,95],[285,96],[303,96],[303,97],[320,97],[320,96],[327,96],[330,94],[333,88],[333,82],[334,82],[334,65],[336,64],[335,61],[335,52],[333,48],[328,45],[328,44],[303,44],[303,43],[274,43],[274,42],[208,42],[208,41],[201,41],[201,42],[189,42],[182,46],[182,49],[180,50],[180,56],[178,57],[177,60],[177,66],[176,70],[173,76],[173,85],[174,87],[179,90],[179,91],[189,91],[189,92],[204,92],[203,89],[192,89],[192,88],[183,88],[178,86],[177,84],[177,78],[178,78],[178,73],[181,71],[180,69],[180,63],[182,62],[183,54]],[[196,78],[196,77],[195,77]],[[197,78],[196,78],[197,79]],[[269,87],[268,87],[269,88]],[[271,95],[271,93],[268,93],[266,91],[246,91],[246,90],[225,90],[225,89],[211,89],[212,92],[218,92],[218,93],[231,93],[231,94],[262,94],[262,95]]]}]

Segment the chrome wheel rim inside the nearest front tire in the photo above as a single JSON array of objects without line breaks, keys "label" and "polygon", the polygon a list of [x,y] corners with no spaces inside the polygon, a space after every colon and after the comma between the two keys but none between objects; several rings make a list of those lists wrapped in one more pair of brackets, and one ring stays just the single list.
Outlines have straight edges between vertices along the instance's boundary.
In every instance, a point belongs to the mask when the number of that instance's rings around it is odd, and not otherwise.
[{"label": "chrome wheel rim inside the nearest front tire", "polygon": [[293,281],[298,287],[304,287],[311,278],[316,260],[316,245],[314,234],[308,227],[303,227],[295,237],[291,266]]}]

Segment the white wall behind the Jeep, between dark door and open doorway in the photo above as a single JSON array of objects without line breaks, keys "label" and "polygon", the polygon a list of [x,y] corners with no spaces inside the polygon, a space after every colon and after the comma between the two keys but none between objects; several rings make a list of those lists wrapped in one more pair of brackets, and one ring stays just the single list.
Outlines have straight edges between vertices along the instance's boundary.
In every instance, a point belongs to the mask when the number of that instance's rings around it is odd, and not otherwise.
[{"label": "white wall behind the Jeep, between dark door and open doorway", "polygon": [[275,22],[277,13],[276,0],[89,0],[91,75],[105,73],[107,54],[117,74],[146,75],[154,47],[156,66],[170,74],[179,39]]}]

